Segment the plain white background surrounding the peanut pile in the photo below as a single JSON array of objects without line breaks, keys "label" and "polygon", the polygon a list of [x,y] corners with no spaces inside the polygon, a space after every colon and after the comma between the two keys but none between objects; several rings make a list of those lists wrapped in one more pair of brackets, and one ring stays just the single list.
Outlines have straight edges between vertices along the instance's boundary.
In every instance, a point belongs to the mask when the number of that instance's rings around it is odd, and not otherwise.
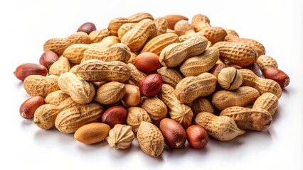
[{"label": "plain white background surrounding the peanut pile", "polygon": [[[107,142],[88,146],[21,118],[18,109],[29,96],[13,72],[19,64],[38,63],[46,40],[75,33],[87,21],[102,29],[112,18],[142,11],[154,18],[178,13],[191,19],[203,13],[212,26],[262,42],[290,77],[270,130],[230,142],[210,140],[201,150],[165,148],[155,159],[137,141],[126,150]],[[1,2],[0,169],[303,169],[302,11],[300,0]]]}]

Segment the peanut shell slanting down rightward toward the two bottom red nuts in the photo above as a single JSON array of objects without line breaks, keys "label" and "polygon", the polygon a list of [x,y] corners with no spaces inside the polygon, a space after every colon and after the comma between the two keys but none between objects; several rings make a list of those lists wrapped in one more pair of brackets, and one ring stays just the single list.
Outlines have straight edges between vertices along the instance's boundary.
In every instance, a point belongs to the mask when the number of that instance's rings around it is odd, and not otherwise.
[{"label": "peanut shell slanting down rightward toward the two bottom red nuts", "polygon": [[176,120],[184,128],[191,125],[193,111],[189,106],[182,104],[175,96],[175,90],[169,84],[162,84],[158,97],[165,103],[169,109],[169,117]]}]

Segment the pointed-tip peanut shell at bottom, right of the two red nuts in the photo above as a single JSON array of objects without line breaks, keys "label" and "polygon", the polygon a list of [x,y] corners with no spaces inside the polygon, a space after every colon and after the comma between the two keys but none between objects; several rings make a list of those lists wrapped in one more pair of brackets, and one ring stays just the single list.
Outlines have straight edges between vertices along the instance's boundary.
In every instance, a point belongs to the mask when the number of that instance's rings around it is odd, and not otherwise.
[{"label": "pointed-tip peanut shell at bottom, right of the two red nuts", "polygon": [[235,124],[235,120],[228,116],[216,116],[212,113],[201,112],[196,115],[195,122],[201,125],[208,135],[221,141],[233,140],[238,135],[243,135],[244,130],[240,130]]}]

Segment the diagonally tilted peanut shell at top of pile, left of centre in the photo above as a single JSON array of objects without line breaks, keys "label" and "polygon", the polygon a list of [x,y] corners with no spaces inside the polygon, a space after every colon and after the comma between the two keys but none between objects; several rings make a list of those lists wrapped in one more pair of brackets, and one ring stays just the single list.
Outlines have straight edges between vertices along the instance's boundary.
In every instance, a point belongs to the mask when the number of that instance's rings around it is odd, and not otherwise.
[{"label": "diagonally tilted peanut shell at top of pile, left of centre", "polygon": [[144,19],[125,33],[121,43],[127,45],[132,52],[139,51],[151,35],[156,32],[156,26],[151,19]]}]

